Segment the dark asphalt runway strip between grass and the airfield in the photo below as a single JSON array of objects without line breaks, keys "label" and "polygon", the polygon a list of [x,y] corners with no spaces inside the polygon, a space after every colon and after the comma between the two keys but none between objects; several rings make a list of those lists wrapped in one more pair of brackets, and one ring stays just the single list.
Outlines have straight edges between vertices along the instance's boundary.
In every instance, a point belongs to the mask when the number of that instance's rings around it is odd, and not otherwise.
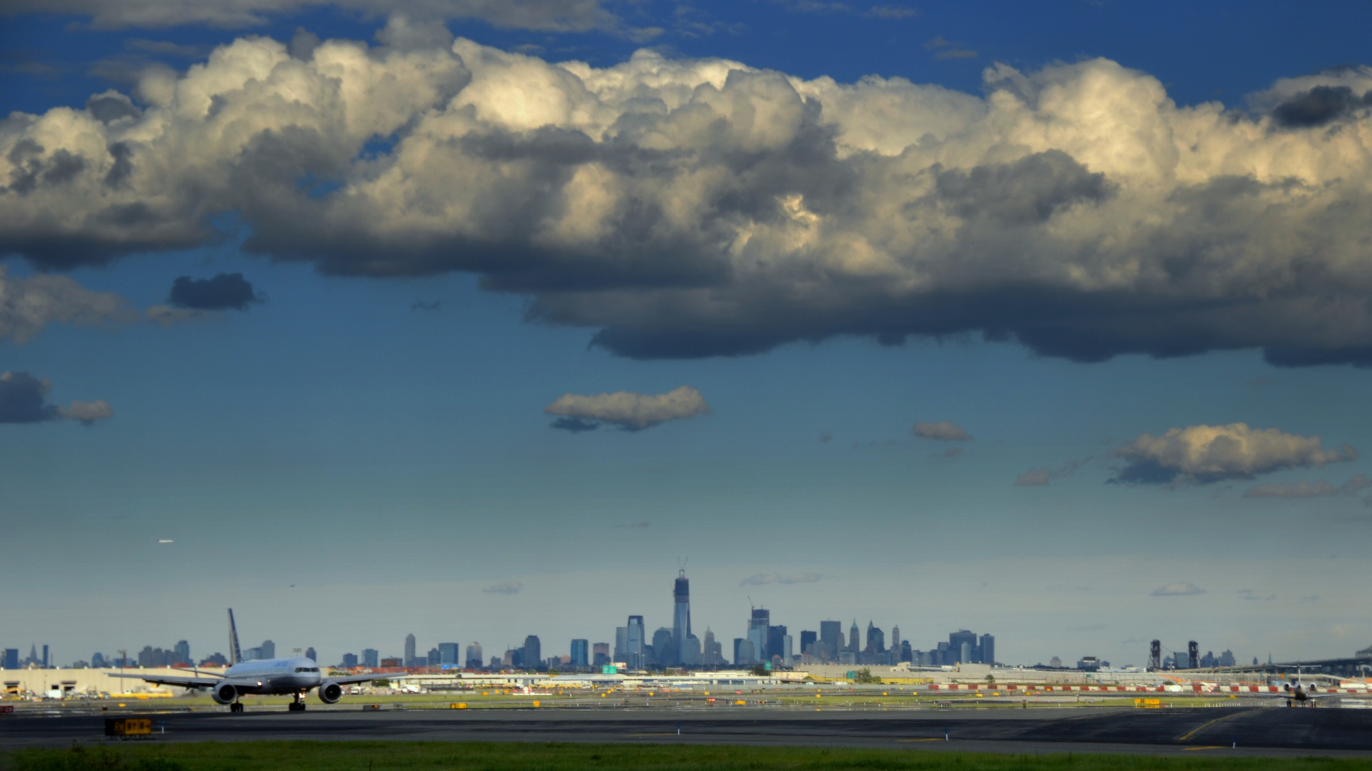
[{"label": "dark asphalt runway strip between grass and the airfield", "polygon": [[[114,715],[111,712],[110,715]],[[5,716],[0,748],[102,738],[100,716]],[[940,712],[425,709],[163,713],[152,741],[687,742],[965,752],[1372,756],[1369,709],[949,709]]]}]

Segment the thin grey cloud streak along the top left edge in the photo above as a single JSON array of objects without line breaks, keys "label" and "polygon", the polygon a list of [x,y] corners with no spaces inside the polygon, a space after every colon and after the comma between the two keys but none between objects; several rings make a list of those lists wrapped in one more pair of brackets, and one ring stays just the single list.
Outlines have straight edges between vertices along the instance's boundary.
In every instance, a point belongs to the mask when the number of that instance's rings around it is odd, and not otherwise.
[{"label": "thin grey cloud streak along the top left edge", "polygon": [[10,0],[0,15],[77,14],[96,29],[170,27],[207,25],[252,27],[272,16],[299,14],[311,7],[333,5],[369,15],[405,14],[410,18],[479,19],[497,27],[545,32],[635,33],[605,10],[598,0]]}]

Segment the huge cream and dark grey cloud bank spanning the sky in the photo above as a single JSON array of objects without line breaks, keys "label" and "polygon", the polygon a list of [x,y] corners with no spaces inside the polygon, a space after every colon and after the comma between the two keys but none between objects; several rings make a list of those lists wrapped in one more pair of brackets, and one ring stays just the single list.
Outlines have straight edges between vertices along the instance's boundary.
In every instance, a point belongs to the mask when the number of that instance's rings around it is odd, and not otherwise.
[{"label": "huge cream and dark grey cloud bank spanning the sky", "polygon": [[1229,111],[1103,59],[996,64],[971,96],[650,51],[557,63],[439,45],[432,14],[410,15],[383,45],[246,37],[137,73],[143,107],[107,93],[0,121],[0,251],[102,263],[204,244],[236,213],[248,251],[476,273],[531,321],[638,358],[971,332],[1074,361],[1261,347],[1372,365],[1372,115],[1354,104],[1372,69]]}]

